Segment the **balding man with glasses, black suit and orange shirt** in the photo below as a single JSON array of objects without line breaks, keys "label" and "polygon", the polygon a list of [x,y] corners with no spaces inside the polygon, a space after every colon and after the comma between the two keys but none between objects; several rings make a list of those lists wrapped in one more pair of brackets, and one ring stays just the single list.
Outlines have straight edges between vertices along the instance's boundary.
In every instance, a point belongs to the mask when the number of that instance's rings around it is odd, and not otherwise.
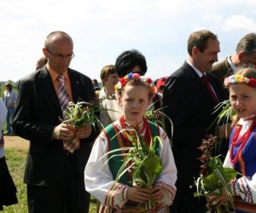
[{"label": "balding man with glasses, black suit and orange shirt", "polygon": [[[96,131],[90,125],[76,130],[61,123],[58,98],[59,75],[64,76],[69,101],[92,101],[95,92],[90,78],[69,68],[73,40],[65,32],[51,32],[44,43],[47,65],[20,79],[15,111],[15,134],[30,141],[25,182],[30,213],[85,213],[90,194],[84,187],[84,167]],[[80,147],[73,153],[63,141],[76,135]]]}]

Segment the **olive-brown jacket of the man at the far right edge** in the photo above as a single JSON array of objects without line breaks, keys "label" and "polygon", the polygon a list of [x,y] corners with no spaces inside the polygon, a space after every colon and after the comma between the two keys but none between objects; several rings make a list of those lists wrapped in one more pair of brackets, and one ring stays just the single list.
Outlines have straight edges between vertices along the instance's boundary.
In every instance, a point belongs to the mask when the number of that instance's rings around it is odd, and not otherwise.
[{"label": "olive-brown jacket of the man at the far right edge", "polygon": [[212,66],[212,75],[218,78],[219,84],[221,85],[222,93],[224,99],[228,100],[230,98],[229,89],[224,87],[224,78],[233,74],[233,69],[228,62],[228,59],[223,60],[222,62]]}]

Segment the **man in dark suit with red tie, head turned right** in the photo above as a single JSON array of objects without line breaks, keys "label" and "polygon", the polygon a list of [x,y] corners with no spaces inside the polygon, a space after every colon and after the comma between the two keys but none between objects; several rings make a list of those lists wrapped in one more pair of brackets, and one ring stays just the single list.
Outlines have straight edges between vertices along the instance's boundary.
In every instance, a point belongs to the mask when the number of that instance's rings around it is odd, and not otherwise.
[{"label": "man in dark suit with red tie, head turned right", "polygon": [[[190,186],[200,173],[198,158],[201,151],[197,147],[211,132],[207,132],[207,128],[214,119],[213,108],[222,101],[218,79],[208,72],[218,61],[217,36],[209,31],[193,32],[189,37],[188,52],[188,60],[168,78],[163,94],[164,112],[173,123],[173,137],[167,119],[166,132],[172,138],[177,165],[177,193],[171,212],[205,213],[205,199],[195,199],[195,188]],[[207,78],[210,85],[202,77]]]}]

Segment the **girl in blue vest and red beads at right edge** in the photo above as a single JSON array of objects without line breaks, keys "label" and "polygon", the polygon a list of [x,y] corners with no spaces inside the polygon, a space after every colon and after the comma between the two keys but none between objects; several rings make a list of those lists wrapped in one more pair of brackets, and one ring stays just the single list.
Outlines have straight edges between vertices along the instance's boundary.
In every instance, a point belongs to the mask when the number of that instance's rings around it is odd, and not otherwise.
[{"label": "girl in blue vest and red beads at right edge", "polygon": [[[225,78],[224,85],[230,89],[230,104],[236,116],[236,125],[230,135],[229,152],[224,167],[238,172],[230,183],[236,212],[256,212],[256,69],[245,68]],[[226,191],[220,197],[209,199],[212,204],[229,200]]]}]

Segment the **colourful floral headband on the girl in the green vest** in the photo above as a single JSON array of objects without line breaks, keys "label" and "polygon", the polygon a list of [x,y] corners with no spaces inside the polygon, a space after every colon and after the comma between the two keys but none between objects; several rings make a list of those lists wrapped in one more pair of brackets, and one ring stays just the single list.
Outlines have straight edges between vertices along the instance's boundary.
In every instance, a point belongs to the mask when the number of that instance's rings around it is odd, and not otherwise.
[{"label": "colourful floral headband on the girl in the green vest", "polygon": [[148,83],[148,86],[150,87],[150,92],[154,93],[154,82],[152,81],[151,78],[145,78],[143,76],[140,76],[138,73],[132,72],[130,72],[124,78],[119,78],[119,82],[114,86],[115,91],[117,93],[120,93],[122,89],[125,87],[126,83],[128,83],[131,80],[137,80],[142,81],[144,83]]}]

